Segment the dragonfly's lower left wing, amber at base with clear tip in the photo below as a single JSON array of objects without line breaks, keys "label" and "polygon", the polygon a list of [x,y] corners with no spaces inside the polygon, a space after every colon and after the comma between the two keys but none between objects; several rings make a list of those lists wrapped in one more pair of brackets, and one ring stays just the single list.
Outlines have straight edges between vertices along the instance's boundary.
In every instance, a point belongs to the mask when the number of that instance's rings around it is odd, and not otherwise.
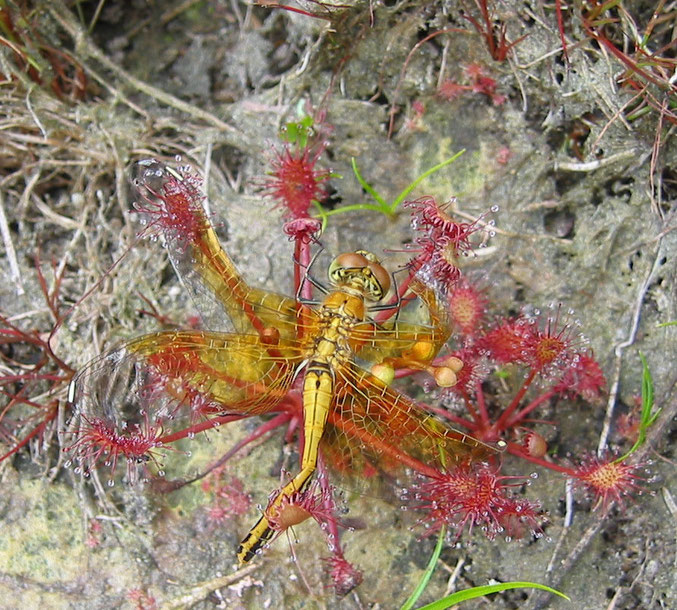
[{"label": "dragonfly's lower left wing, amber at base with clear tip", "polygon": [[147,460],[155,448],[207,429],[212,420],[274,408],[304,355],[297,342],[271,346],[256,335],[144,335],[74,378],[73,447],[90,465],[104,456]]}]

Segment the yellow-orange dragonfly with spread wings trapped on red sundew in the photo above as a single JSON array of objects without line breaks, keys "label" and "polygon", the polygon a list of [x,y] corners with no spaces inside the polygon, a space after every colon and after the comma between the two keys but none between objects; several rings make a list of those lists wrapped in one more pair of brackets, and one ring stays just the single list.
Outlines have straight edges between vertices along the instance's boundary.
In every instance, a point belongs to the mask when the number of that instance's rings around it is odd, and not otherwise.
[{"label": "yellow-orange dragonfly with spread wings trapped on red sundew", "polygon": [[391,276],[365,250],[332,261],[329,287],[318,303],[250,286],[222,248],[196,184],[155,160],[142,162],[140,174],[138,207],[150,227],[162,232],[205,323],[223,326],[227,318],[233,331],[144,335],[80,371],[69,399],[77,439],[72,449],[85,468],[101,461],[114,467],[121,457],[132,467],[145,465],[183,436],[177,431],[193,434],[274,412],[298,387],[300,469],[240,543],[237,558],[246,563],[275,535],[270,511],[308,487],[318,456],[338,473],[359,478],[375,469],[391,476],[411,471],[434,476],[495,452],[448,427],[384,378],[384,370],[444,369],[432,365],[450,335],[434,288],[416,278],[408,287],[427,311],[425,323],[387,317],[402,300],[388,300]]}]

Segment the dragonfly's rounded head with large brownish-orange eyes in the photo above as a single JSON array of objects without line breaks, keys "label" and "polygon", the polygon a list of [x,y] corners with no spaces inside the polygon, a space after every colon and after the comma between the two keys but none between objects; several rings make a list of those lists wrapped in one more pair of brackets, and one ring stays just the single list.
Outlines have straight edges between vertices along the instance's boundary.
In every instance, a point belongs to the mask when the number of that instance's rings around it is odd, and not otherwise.
[{"label": "dragonfly's rounded head with large brownish-orange eyes", "polygon": [[329,265],[329,281],[339,288],[357,291],[370,301],[381,300],[390,290],[390,274],[366,250],[339,254]]}]

